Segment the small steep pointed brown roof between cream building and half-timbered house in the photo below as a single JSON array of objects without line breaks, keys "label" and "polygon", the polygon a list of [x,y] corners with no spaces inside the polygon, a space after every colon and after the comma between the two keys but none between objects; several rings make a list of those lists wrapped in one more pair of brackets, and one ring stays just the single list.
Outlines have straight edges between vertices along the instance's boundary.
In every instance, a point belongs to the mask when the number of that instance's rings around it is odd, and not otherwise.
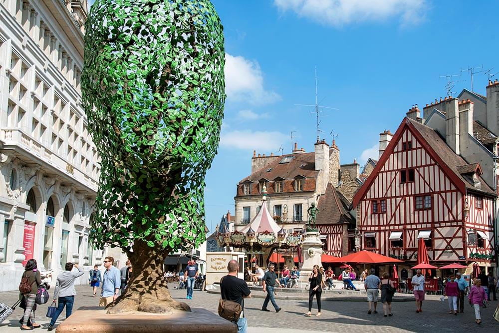
[{"label": "small steep pointed brown roof between cream building and half-timbered house", "polygon": [[353,223],[354,219],[348,213],[350,202],[329,183],[326,193],[320,196],[317,204],[319,213],[316,224]]}]

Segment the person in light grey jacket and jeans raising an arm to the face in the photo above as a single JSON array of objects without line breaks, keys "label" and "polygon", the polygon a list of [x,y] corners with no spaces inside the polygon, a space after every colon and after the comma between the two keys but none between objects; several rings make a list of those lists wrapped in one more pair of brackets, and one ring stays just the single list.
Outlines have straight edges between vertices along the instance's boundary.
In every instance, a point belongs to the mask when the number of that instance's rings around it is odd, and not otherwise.
[{"label": "person in light grey jacket and jeans raising an arm to the face", "polygon": [[[73,267],[78,269],[77,272],[71,272]],[[66,307],[66,318],[71,316],[73,311],[74,296],[76,295],[76,290],[74,290],[74,279],[79,278],[83,275],[83,271],[78,267],[78,264],[66,263],[64,267],[65,271],[61,272],[57,277],[57,282],[55,283],[54,291],[54,302],[57,301],[57,310],[50,320],[47,331],[52,331],[55,321],[59,318],[59,315]]]}]

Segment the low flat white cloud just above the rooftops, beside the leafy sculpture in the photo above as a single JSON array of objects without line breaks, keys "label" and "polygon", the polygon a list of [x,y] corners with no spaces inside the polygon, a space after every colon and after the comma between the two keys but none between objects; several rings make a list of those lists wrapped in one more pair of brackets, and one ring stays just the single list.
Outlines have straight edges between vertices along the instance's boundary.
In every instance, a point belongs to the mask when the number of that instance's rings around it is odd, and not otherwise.
[{"label": "low flat white cloud just above the rooftops, beside the leafy sculpture", "polygon": [[275,152],[286,140],[287,136],[277,131],[234,130],[222,132],[220,145],[225,148]]}]

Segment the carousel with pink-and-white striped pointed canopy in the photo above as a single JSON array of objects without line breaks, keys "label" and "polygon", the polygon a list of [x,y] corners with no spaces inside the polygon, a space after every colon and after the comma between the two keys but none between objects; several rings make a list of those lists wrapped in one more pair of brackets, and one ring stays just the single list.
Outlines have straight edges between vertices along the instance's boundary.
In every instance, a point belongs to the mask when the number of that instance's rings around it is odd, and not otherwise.
[{"label": "carousel with pink-and-white striped pointed canopy", "polygon": [[[262,188],[261,194],[261,208],[251,222],[242,230],[232,232],[228,225],[221,228],[217,226],[216,240],[221,247],[244,249],[249,257],[248,262],[256,261],[260,266],[264,266],[271,262],[272,254],[276,253],[275,257],[283,257],[285,263],[292,267],[293,257],[296,253],[300,254],[304,234],[287,233],[279,226],[268,211],[266,187]],[[280,260],[277,260],[275,264],[279,266],[279,262]]]}]

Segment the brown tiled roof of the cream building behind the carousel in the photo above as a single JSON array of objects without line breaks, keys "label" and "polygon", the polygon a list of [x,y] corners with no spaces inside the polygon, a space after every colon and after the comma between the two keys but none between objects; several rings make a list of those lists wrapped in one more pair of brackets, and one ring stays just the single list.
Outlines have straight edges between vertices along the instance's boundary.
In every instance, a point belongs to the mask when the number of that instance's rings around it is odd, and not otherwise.
[{"label": "brown tiled roof of the cream building behind the carousel", "polygon": [[[288,163],[279,163],[284,157],[292,156],[293,158]],[[271,169],[269,172],[266,170]],[[293,179],[296,176],[304,176],[305,178],[316,177],[319,171],[315,171],[315,153],[298,153],[282,155],[275,158],[272,162],[265,167],[256,170],[250,176],[242,179],[239,183],[246,180],[258,182],[260,179],[265,178],[274,180],[277,177],[284,179]]]}]

